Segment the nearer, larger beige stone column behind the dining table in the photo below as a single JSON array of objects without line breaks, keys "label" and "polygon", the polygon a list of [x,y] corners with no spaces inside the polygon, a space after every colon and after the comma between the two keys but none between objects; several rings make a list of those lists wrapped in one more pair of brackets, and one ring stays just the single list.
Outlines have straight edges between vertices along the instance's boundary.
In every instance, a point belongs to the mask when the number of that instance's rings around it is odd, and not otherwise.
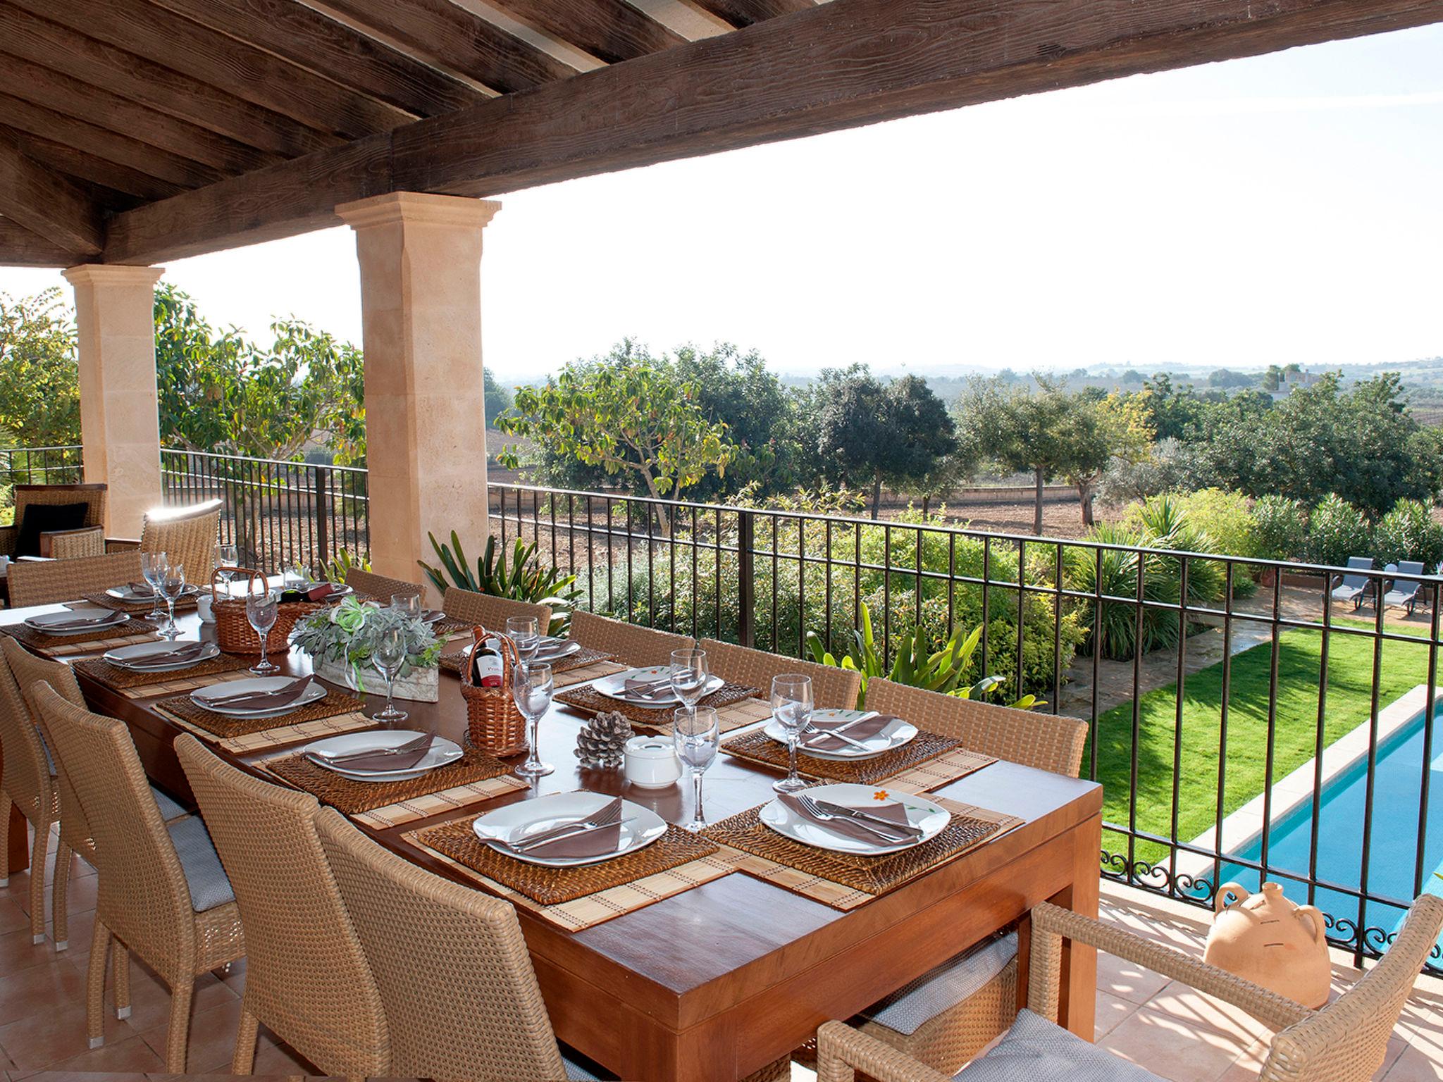
[{"label": "nearer, larger beige stone column behind the dining table", "polygon": [[[427,532],[485,545],[481,232],[501,203],[395,192],[336,214],[356,234],[371,566],[421,580]],[[436,603],[440,599],[433,599]]]}]

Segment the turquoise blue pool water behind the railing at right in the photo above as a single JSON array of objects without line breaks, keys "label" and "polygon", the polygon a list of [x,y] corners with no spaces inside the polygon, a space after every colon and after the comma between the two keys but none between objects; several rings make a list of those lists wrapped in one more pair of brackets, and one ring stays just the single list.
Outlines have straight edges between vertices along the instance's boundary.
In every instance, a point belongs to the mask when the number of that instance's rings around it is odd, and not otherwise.
[{"label": "turquoise blue pool water behind the railing at right", "polygon": [[[1443,880],[1433,873],[1443,871],[1443,710],[1433,720],[1433,753],[1429,763],[1429,814],[1424,831],[1423,889],[1443,894]],[[1359,759],[1323,786],[1317,830],[1317,879],[1346,887],[1361,886],[1364,804],[1368,785],[1368,760]],[[1368,893],[1407,902],[1413,897],[1418,851],[1418,805],[1423,793],[1423,714],[1395,730],[1378,746],[1374,773],[1372,840],[1368,853]],[[1273,822],[1268,838],[1270,879],[1283,884],[1283,892],[1297,903],[1307,902],[1307,886],[1273,868],[1307,876],[1312,857],[1312,801],[1294,808]],[[1261,860],[1263,841],[1254,840],[1237,854],[1244,860]],[[1222,866],[1222,883],[1241,883],[1248,890],[1258,889],[1258,873],[1237,864]],[[1346,920],[1339,938],[1358,920],[1358,899],[1338,890],[1319,887],[1313,905],[1330,916]],[[1364,915],[1365,928],[1397,931],[1404,910],[1398,906],[1369,902]],[[1336,935],[1336,932],[1335,932]],[[1372,941],[1371,941],[1372,942]]]}]

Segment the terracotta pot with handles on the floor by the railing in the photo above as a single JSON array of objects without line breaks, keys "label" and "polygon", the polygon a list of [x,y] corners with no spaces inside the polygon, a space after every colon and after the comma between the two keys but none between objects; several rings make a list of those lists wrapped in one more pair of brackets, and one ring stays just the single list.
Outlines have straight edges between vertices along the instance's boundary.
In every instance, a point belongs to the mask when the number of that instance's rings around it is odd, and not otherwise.
[{"label": "terracotta pot with handles on the floor by the railing", "polygon": [[[1224,906],[1229,896],[1235,900]],[[1332,964],[1316,906],[1294,905],[1277,883],[1264,883],[1261,894],[1224,883],[1216,905],[1205,962],[1304,1007],[1328,1003]]]}]

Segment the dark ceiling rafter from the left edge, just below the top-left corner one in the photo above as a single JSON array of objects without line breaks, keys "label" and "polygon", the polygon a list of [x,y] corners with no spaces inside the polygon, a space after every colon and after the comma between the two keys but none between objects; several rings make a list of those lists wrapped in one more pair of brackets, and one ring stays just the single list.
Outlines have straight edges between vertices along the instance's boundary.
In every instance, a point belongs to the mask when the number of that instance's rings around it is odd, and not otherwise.
[{"label": "dark ceiling rafter from the left edge, just below the top-left corner one", "polygon": [[[4,43],[0,42],[0,49],[3,48]],[[0,62],[10,75],[6,91],[12,97],[89,121],[190,162],[199,162],[219,170],[221,175],[248,173],[281,160],[278,154],[237,143],[199,124],[160,113],[19,56],[6,56]]]}]

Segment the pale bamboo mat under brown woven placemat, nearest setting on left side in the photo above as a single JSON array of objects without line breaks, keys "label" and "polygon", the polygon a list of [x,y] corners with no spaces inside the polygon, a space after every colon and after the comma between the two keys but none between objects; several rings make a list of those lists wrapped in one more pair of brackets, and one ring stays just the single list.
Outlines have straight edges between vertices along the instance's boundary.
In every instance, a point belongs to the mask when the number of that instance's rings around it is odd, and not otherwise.
[{"label": "pale bamboo mat under brown woven placemat, nearest setting on left side", "polygon": [[[446,861],[455,868],[459,868],[468,879],[475,880],[488,890],[499,894],[501,897],[509,900],[512,905],[535,913],[543,920],[547,920],[558,928],[569,932],[580,932],[583,928],[592,928],[595,925],[605,923],[613,918],[622,916],[623,913],[631,913],[638,909],[649,906],[652,902],[661,902],[664,897],[671,897],[672,894],[680,894],[693,887],[698,887],[703,883],[710,883],[714,879],[722,879],[722,876],[729,876],[736,868],[730,861],[723,860],[726,850],[717,850],[714,845],[709,845],[698,840],[687,831],[681,831],[675,827],[668,831],[668,835],[661,841],[657,841],[648,848],[657,848],[658,845],[665,845],[671,837],[671,832],[684,834],[696,843],[704,845],[706,851],[701,856],[693,857],[683,864],[664,868],[661,871],[654,871],[651,874],[642,876],[641,879],[633,879],[629,883],[620,883],[613,887],[606,887],[605,890],[597,890],[582,897],[574,897],[569,902],[557,902],[553,905],[544,905],[537,902],[519,890],[501,883],[499,880],[491,879],[481,871],[469,867],[468,864],[456,860],[449,853],[444,853],[434,845],[427,843],[427,835],[433,831],[442,831],[452,828],[452,832],[465,831],[466,835],[475,843],[476,848],[485,848],[491,853],[489,845],[482,845],[476,841],[476,835],[470,830],[470,824],[475,821],[473,815],[468,815],[462,819],[455,819],[452,822],[439,824],[436,827],[427,827],[418,831],[410,831],[401,837],[410,841],[413,845],[426,850],[439,860]],[[457,831],[459,825],[459,831]],[[645,853],[645,850],[642,850]],[[499,856],[499,854],[496,854]],[[519,861],[512,861],[519,864]],[[615,864],[618,861],[606,861],[608,864]],[[595,866],[593,866],[595,867]]]}]

